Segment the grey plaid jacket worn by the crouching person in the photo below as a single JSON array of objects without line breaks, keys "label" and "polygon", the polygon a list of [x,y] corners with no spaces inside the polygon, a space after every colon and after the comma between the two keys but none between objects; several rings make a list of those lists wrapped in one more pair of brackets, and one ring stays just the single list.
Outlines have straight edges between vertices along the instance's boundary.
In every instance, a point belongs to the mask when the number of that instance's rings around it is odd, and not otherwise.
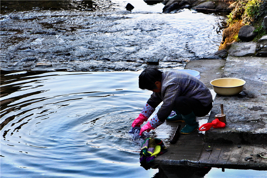
[{"label": "grey plaid jacket worn by the crouching person", "polygon": [[161,93],[155,93],[148,99],[147,104],[156,108],[163,104],[157,112],[160,121],[165,120],[175,106],[175,98],[179,96],[192,97],[204,106],[212,102],[212,94],[207,86],[196,77],[186,72],[164,71],[161,80]]}]

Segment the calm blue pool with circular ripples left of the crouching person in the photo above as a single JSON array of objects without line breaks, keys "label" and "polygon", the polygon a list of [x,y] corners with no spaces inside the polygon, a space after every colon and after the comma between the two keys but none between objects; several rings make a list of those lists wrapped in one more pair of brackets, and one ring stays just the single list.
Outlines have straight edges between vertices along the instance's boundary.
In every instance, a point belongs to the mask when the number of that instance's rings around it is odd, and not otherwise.
[{"label": "calm blue pool with circular ripples left of the crouching person", "polygon": [[128,135],[139,74],[1,70],[1,176],[152,177]]}]

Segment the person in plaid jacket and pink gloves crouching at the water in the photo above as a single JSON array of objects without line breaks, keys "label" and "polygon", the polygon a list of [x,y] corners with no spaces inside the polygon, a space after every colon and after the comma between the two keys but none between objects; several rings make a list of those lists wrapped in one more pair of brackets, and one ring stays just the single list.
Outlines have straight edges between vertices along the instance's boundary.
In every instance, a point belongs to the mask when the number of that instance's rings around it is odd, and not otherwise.
[{"label": "person in plaid jacket and pink gloves crouching at the water", "polygon": [[[141,126],[144,131],[156,129],[166,121],[185,121],[186,126],[181,134],[191,134],[198,129],[196,116],[206,116],[212,108],[212,95],[207,86],[196,77],[181,71],[159,71],[147,68],[139,75],[139,88],[152,91],[152,95],[143,107],[132,127]],[[155,108],[161,103],[158,112],[152,116]],[[173,117],[168,117],[172,111]]]}]

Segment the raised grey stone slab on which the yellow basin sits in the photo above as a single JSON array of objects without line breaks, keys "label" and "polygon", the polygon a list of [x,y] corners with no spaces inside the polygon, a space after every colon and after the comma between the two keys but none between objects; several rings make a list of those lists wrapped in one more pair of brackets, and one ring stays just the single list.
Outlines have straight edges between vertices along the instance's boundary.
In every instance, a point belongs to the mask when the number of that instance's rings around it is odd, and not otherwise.
[{"label": "raised grey stone slab on which the yellow basin sits", "polygon": [[207,142],[267,144],[267,58],[228,56],[223,78],[246,81],[235,96],[216,95],[209,122],[220,114],[224,104],[226,127],[206,131]]}]

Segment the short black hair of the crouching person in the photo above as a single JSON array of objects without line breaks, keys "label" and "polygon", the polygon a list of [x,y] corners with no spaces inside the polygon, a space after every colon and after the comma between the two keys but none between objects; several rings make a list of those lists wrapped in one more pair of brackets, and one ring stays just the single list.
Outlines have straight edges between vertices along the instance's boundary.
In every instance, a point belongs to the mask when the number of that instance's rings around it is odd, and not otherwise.
[{"label": "short black hair of the crouching person", "polygon": [[154,67],[146,68],[139,75],[139,88],[147,90],[157,89],[155,82],[161,82],[162,73]]}]

